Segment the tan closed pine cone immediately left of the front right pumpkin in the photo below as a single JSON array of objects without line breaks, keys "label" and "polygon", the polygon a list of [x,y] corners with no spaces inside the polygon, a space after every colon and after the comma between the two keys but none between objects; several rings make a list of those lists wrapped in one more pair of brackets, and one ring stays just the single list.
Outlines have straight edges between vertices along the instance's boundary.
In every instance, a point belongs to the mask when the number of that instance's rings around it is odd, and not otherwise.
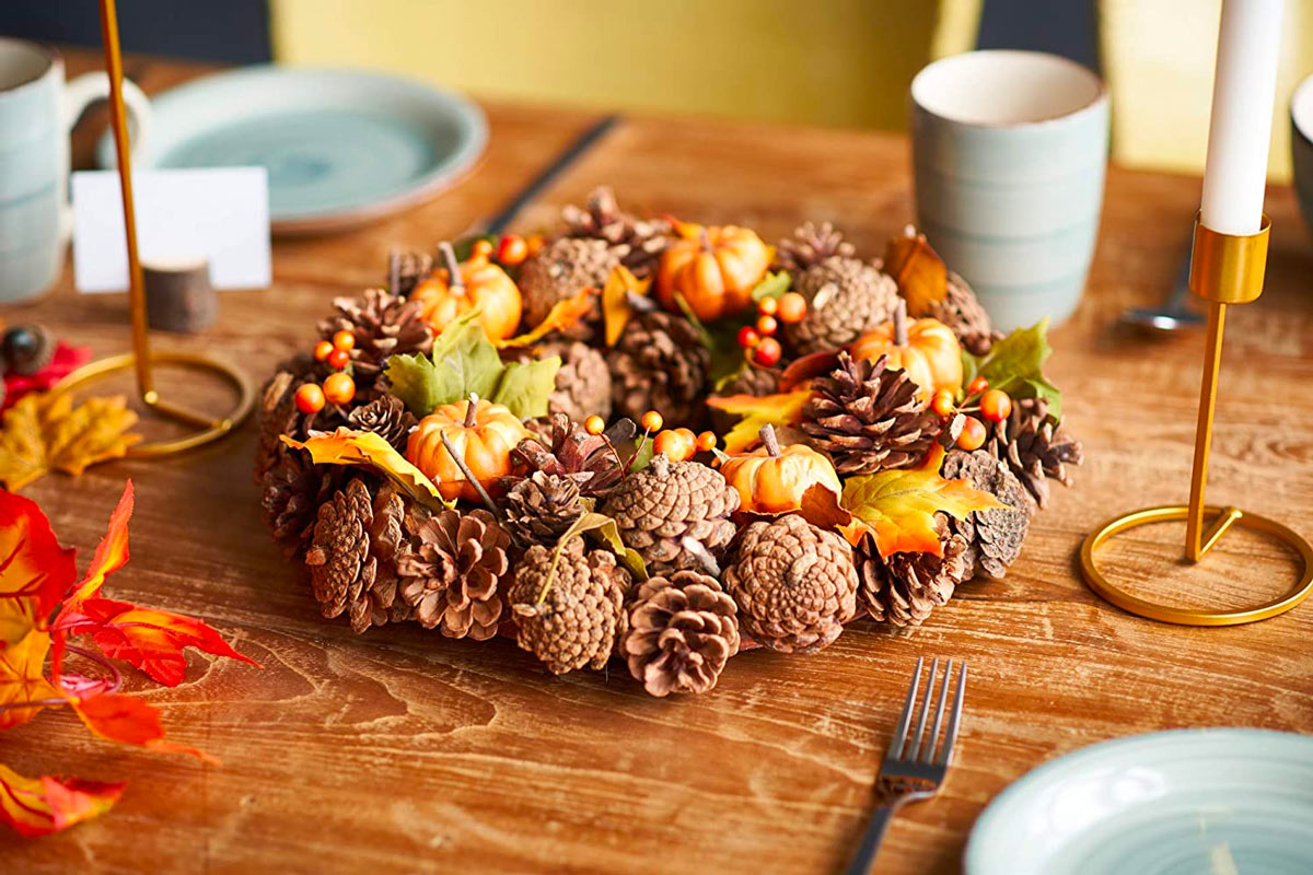
[{"label": "tan closed pine cone immediately left of the front right pumpkin", "polygon": [[738,492],[720,471],[656,455],[616,487],[601,512],[616,521],[620,539],[638,551],[649,575],[667,575],[706,571],[708,554],[720,560],[734,538],[729,517],[738,506]]}]

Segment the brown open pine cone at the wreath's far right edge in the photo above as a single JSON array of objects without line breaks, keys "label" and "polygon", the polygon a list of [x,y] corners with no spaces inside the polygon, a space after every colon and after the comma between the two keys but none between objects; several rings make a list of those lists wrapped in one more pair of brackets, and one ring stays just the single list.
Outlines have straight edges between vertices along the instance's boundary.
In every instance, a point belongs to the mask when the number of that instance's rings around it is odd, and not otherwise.
[{"label": "brown open pine cone at the wreath's far right edge", "polygon": [[1007,463],[1041,509],[1049,502],[1049,479],[1071,485],[1066,466],[1085,460],[1081,442],[1061,433],[1062,424],[1049,418],[1049,405],[1043,399],[1014,401],[1011,416],[987,428],[985,449]]}]

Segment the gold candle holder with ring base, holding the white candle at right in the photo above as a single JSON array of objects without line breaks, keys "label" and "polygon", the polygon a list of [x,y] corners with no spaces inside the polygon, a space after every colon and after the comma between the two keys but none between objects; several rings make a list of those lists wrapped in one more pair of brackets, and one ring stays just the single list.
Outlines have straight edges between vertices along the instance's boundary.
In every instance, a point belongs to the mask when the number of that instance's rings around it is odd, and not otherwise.
[{"label": "gold candle holder with ring base, holding the white candle at right", "polygon": [[[1236,626],[1276,617],[1291,610],[1313,592],[1313,547],[1287,526],[1233,506],[1204,504],[1208,483],[1208,454],[1212,450],[1213,411],[1217,407],[1217,371],[1222,358],[1226,307],[1246,304],[1263,293],[1267,265],[1267,236],[1271,220],[1263,215],[1258,234],[1236,236],[1218,234],[1195,216],[1195,241],[1190,256],[1190,289],[1208,302],[1208,341],[1204,346],[1204,378],[1199,391],[1199,422],[1195,426],[1195,464],[1190,478],[1190,504],[1132,510],[1108,519],[1081,546],[1081,571],[1090,589],[1117,607],[1182,626]],[[1212,522],[1205,529],[1205,521]],[[1095,551],[1129,529],[1154,522],[1186,521],[1186,559],[1199,563],[1234,525],[1267,533],[1299,554],[1304,563],[1295,585],[1281,597],[1239,610],[1190,610],[1138,598],[1108,581],[1094,563]]]}]

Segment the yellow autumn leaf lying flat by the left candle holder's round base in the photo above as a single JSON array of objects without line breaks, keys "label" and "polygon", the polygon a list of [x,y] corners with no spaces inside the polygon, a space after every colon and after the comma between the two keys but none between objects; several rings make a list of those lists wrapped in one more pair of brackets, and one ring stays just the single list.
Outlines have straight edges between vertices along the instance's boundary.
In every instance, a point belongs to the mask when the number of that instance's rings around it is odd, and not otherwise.
[{"label": "yellow autumn leaf lying flat by the left candle holder's round base", "polygon": [[68,394],[25,395],[0,428],[0,483],[21,489],[50,471],[77,476],[91,464],[121,458],[142,439],[126,433],[135,422],[122,396],[88,397],[74,407]]}]

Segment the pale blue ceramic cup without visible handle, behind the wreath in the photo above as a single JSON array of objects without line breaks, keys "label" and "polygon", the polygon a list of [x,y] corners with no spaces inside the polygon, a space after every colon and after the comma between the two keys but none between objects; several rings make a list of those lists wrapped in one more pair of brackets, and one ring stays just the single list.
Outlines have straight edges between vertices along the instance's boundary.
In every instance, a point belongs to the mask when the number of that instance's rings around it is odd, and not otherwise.
[{"label": "pale blue ceramic cup without visible handle, behind the wreath", "polygon": [[922,231],[1001,331],[1075,310],[1094,256],[1108,93],[1035,51],[937,60],[911,84]]}]

